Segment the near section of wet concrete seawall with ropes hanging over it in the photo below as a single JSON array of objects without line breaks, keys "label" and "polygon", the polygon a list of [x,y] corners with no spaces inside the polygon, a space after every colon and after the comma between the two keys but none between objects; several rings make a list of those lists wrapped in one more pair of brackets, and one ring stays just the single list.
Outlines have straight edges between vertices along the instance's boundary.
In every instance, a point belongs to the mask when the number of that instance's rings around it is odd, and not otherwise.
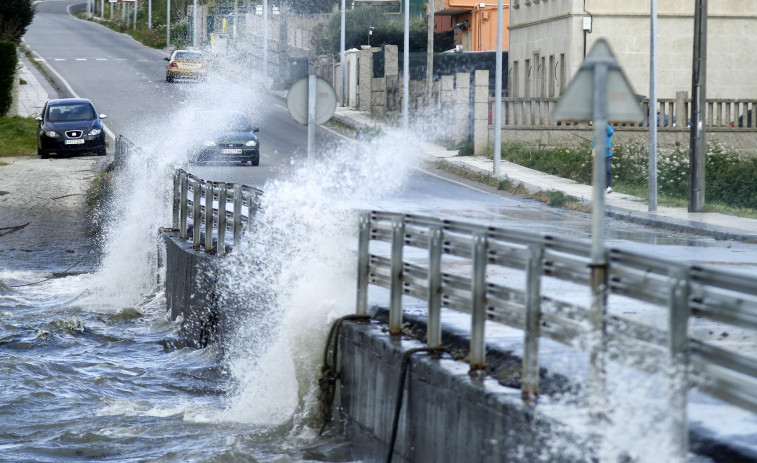
[{"label": "near section of wet concrete seawall with ropes hanging over it", "polygon": [[[345,322],[339,336],[344,432],[358,458],[384,461],[402,356],[421,347],[382,324]],[[519,389],[474,379],[468,364],[417,353],[410,359],[395,462],[589,461],[588,445],[523,404]]]}]

